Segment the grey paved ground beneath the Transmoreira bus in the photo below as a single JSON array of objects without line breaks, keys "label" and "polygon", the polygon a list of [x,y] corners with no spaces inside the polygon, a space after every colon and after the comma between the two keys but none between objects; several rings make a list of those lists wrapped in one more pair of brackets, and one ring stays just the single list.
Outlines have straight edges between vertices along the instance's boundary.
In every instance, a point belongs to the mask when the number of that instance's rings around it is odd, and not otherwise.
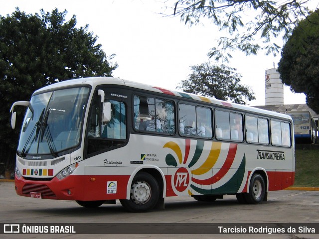
[{"label": "grey paved ground beneath the Transmoreira bus", "polygon": [[[197,202],[190,197],[165,199],[165,209],[149,213],[128,213],[121,204],[82,208],[73,201],[20,197],[14,183],[0,182],[0,223],[315,223],[319,226],[319,191],[270,192],[268,202],[259,205],[239,204],[235,196],[226,195],[214,203]],[[2,237],[4,236],[4,237]],[[0,238],[272,238],[319,239],[319,234],[282,235],[0,235]]]}]

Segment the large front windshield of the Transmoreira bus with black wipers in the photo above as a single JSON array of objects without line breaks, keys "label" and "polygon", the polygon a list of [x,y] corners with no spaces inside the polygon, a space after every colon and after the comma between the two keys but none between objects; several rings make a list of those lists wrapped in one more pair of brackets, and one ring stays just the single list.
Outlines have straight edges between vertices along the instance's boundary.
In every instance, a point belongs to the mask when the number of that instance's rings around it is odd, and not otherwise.
[{"label": "large front windshield of the Transmoreira bus with black wipers", "polygon": [[55,90],[34,95],[23,120],[18,151],[27,154],[52,154],[75,147],[80,142],[88,87]]}]

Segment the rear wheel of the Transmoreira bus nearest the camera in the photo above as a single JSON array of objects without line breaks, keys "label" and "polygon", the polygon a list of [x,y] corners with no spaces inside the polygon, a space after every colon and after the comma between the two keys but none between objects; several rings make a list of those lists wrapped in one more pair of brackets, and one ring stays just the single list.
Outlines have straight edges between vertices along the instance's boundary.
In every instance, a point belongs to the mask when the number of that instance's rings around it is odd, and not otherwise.
[{"label": "rear wheel of the Transmoreira bus nearest the camera", "polygon": [[265,192],[264,178],[256,173],[250,180],[249,193],[245,194],[245,199],[249,204],[259,204],[264,200]]}]

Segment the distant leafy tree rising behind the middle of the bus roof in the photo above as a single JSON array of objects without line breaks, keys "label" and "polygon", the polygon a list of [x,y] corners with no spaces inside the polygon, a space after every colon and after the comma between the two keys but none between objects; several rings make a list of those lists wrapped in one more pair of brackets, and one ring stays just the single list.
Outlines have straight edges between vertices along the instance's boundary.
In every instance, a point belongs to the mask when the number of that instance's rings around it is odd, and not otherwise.
[{"label": "distant leafy tree rising behind the middle of the bus roof", "polygon": [[192,73],[187,80],[179,83],[178,89],[242,105],[246,105],[246,100],[255,100],[250,87],[239,84],[241,75],[234,68],[211,65],[209,62],[190,68]]}]

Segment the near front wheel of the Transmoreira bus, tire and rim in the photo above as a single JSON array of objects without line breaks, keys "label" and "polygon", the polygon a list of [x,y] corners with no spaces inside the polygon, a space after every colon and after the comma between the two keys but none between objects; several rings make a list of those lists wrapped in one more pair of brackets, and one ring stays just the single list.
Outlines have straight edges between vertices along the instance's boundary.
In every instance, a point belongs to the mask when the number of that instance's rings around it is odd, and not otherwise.
[{"label": "near front wheel of the Transmoreira bus, tire and rim", "polygon": [[130,212],[146,212],[157,205],[160,187],[151,174],[139,172],[132,181],[130,194],[129,200],[120,199],[122,206]]}]

